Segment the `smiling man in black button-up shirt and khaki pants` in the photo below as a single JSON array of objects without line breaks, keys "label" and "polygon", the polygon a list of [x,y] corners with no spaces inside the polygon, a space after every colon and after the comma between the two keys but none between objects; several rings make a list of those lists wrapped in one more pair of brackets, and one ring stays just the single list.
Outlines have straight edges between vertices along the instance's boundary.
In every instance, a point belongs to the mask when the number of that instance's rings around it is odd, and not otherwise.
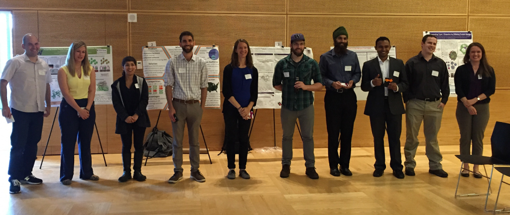
[{"label": "smiling man in black button-up shirt and khaki pants", "polygon": [[405,174],[414,176],[418,132],[423,121],[425,154],[428,157],[428,172],[446,178],[443,156],[439,151],[438,132],[441,127],[443,109],[450,95],[446,63],[433,55],[438,40],[434,35],[425,35],[421,52],[405,63],[409,89],[403,93],[405,102],[406,138],[404,146]]}]

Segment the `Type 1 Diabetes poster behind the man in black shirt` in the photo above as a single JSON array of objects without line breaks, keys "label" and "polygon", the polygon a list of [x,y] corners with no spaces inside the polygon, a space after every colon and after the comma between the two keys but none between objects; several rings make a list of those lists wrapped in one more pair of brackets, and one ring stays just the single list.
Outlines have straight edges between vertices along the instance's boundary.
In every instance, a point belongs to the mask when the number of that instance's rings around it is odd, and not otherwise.
[{"label": "Type 1 Diabetes poster behind the man in black shirt", "polygon": [[453,76],[457,67],[464,64],[464,56],[467,54],[468,45],[473,42],[472,32],[423,32],[423,36],[431,34],[438,38],[434,55],[445,61],[448,67],[448,83],[450,84],[450,96],[455,94]]}]

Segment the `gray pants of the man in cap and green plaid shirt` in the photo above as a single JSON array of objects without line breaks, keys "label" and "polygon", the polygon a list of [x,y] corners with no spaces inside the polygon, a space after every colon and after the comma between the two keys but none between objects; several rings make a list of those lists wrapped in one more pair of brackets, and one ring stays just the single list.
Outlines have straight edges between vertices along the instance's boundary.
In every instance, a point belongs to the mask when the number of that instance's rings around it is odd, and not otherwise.
[{"label": "gray pants of the man in cap and green plaid shirt", "polygon": [[282,165],[290,165],[292,160],[292,137],[296,128],[296,120],[299,119],[299,127],[303,138],[304,166],[315,167],[314,155],[314,105],[310,105],[301,111],[290,111],[282,106],[280,113],[282,118]]}]

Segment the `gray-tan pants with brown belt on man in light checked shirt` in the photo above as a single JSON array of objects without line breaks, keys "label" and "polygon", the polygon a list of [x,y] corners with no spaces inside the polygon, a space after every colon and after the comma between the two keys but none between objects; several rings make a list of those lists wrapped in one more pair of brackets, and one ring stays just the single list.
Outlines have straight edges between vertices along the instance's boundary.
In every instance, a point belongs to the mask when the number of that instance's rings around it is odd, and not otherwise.
[{"label": "gray-tan pants with brown belt on man in light checked shirt", "polygon": [[188,139],[190,144],[191,171],[198,170],[200,163],[200,144],[198,143],[198,130],[202,120],[202,107],[200,103],[184,104],[172,101],[175,115],[179,121],[172,123],[173,132],[173,166],[174,172],[183,172],[183,136],[184,124],[188,124]]}]

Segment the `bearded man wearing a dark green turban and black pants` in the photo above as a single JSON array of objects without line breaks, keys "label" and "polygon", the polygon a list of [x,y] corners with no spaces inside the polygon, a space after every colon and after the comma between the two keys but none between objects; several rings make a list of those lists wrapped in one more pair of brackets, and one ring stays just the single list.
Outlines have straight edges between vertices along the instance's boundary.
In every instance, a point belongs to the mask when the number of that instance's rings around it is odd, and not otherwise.
[{"label": "bearded man wearing a dark green turban and black pants", "polygon": [[[349,170],[351,139],[358,100],[354,93],[355,83],[361,78],[360,62],[355,52],[348,50],[347,31],[343,26],[333,32],[335,48],[320,57],[320,72],[326,86],[324,107],[326,110],[327,151],[329,174],[351,176]],[[340,136],[340,140],[339,140]],[[340,156],[338,145],[340,144]],[[340,171],[338,169],[340,165]]]}]

